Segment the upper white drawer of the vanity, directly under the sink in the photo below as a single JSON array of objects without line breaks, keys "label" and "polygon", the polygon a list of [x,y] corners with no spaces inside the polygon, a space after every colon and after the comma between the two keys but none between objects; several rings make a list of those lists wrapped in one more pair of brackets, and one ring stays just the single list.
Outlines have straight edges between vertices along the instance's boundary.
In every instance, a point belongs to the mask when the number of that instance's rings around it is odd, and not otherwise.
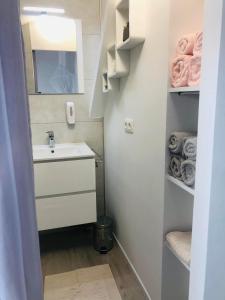
[{"label": "upper white drawer of the vanity, directly under the sink", "polygon": [[95,160],[81,159],[34,164],[35,196],[96,190]]}]

